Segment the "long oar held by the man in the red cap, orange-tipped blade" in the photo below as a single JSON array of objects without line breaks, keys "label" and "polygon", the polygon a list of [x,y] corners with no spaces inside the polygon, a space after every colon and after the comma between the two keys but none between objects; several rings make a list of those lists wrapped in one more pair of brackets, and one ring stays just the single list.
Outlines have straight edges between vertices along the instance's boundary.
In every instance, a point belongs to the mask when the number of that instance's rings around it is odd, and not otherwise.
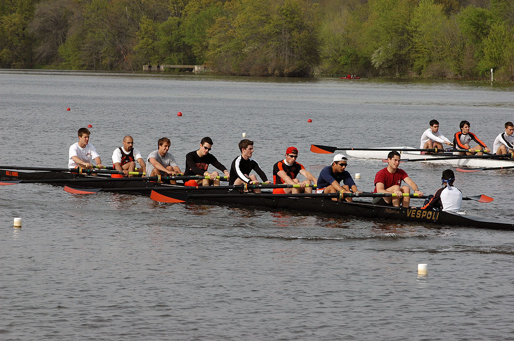
[{"label": "long oar held by the man in the red cap, orange-tipped blade", "polygon": [[[313,187],[316,188],[316,185],[306,185],[305,187]],[[69,186],[64,186],[64,191],[73,194],[94,194],[100,191],[108,191],[108,192],[131,192],[131,191],[142,191],[142,190],[150,190],[155,187],[119,187],[119,188],[73,188]],[[195,191],[197,189],[201,190],[227,190],[227,189],[238,189],[238,190],[247,190],[247,189],[270,189],[270,188],[301,188],[300,185],[229,185],[229,186],[169,186],[166,188],[158,188],[161,191]]]}]

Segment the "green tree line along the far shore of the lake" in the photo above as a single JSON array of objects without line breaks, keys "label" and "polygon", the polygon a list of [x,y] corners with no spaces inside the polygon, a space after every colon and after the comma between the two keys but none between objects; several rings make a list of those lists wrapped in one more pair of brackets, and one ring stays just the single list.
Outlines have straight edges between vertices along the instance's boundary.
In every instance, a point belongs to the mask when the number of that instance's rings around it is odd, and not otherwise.
[{"label": "green tree line along the far shore of the lake", "polygon": [[0,67],[514,80],[512,0],[3,0]]}]

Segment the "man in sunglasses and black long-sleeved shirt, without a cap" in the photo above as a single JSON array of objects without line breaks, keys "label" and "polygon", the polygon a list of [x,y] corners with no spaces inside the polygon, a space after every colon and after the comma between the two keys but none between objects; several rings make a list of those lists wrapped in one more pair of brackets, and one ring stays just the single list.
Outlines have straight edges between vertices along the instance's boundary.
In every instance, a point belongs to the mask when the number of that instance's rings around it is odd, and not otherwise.
[{"label": "man in sunglasses and black long-sleeved shirt, without a cap", "polygon": [[212,149],[212,139],[208,136],[204,137],[200,141],[200,148],[193,150],[186,154],[186,171],[184,175],[201,175],[209,176],[210,179],[193,179],[188,180],[184,183],[185,186],[219,186],[218,172],[209,173],[207,168],[209,165],[213,165],[217,169],[225,173],[225,176],[229,176],[227,167],[223,166],[217,158],[210,154],[209,151]]}]

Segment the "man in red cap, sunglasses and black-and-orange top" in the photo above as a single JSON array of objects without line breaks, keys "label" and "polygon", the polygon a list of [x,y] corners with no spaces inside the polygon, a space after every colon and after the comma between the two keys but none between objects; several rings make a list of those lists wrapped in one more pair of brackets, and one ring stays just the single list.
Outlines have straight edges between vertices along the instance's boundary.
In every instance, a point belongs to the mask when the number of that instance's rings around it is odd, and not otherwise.
[{"label": "man in red cap, sunglasses and black-and-orange top", "polygon": [[[281,185],[300,185],[298,188],[275,188],[273,193],[312,193],[312,187],[305,187],[311,185],[313,182],[316,184],[318,180],[310,174],[302,164],[296,162],[298,158],[298,149],[296,147],[289,147],[286,149],[285,158],[273,165],[273,184]],[[298,173],[305,176],[306,180],[300,182],[297,179]]]}]

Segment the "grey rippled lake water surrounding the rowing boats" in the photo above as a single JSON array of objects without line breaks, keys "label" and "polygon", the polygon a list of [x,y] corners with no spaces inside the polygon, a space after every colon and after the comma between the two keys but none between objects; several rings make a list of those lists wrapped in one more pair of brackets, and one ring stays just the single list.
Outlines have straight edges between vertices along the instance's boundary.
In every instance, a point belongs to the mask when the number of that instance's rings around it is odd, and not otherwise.
[{"label": "grey rippled lake water surrounding the rowing boats", "polygon": [[[0,164],[63,168],[80,127],[105,165],[131,134],[183,170],[211,136],[227,167],[246,132],[271,177],[288,146],[316,176],[338,147],[419,145],[432,118],[489,146],[514,87],[444,81],[0,71]],[[67,111],[66,108],[70,108]],[[177,112],[182,112],[181,117]],[[307,123],[307,119],[312,123]],[[378,160],[351,158],[360,190]],[[447,167],[402,164],[425,193]],[[456,173],[463,209],[512,220],[512,172]],[[159,205],[60,187],[0,188],[2,340],[512,340],[514,232],[309,212]],[[416,203],[413,199],[411,203]],[[14,217],[23,218],[13,229]],[[427,263],[428,277],[417,277]]]}]

